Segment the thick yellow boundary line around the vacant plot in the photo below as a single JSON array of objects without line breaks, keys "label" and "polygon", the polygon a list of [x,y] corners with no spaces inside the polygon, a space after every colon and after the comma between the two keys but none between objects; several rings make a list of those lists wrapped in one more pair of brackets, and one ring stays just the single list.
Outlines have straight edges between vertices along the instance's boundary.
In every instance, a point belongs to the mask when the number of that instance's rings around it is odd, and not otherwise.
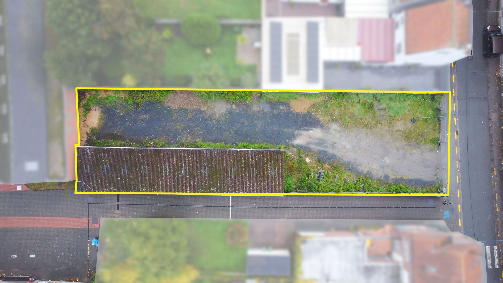
[{"label": "thick yellow boundary line around the vacant plot", "polygon": [[[359,92],[359,93],[449,93],[449,117],[448,123],[448,141],[447,141],[447,195],[446,194],[366,194],[366,193],[300,193],[300,194],[259,194],[259,193],[151,193],[151,192],[77,192],[78,174],[77,174],[77,146],[80,146],[80,125],[78,114],[78,94],[79,89],[139,89],[139,90],[234,90],[234,91],[276,91],[276,92]],[[412,90],[320,90],[320,89],[242,89],[242,88],[141,88],[141,87],[76,87],[75,88],[76,114],[77,114],[77,138],[75,144],[75,194],[97,194],[97,195],[228,195],[228,196],[416,196],[416,197],[449,197],[449,180],[451,164],[451,91],[412,91]]]}]

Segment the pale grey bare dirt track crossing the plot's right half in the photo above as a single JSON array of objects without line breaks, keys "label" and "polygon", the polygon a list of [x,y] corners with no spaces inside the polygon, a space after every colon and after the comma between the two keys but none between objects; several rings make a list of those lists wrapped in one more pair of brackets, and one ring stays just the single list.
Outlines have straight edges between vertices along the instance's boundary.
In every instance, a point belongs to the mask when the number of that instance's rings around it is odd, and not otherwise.
[{"label": "pale grey bare dirt track crossing the plot's right half", "polygon": [[370,130],[348,130],[332,124],[326,128],[304,128],[295,132],[291,143],[326,151],[351,163],[359,171],[375,178],[420,178],[435,180],[437,150],[431,146],[414,147]]}]

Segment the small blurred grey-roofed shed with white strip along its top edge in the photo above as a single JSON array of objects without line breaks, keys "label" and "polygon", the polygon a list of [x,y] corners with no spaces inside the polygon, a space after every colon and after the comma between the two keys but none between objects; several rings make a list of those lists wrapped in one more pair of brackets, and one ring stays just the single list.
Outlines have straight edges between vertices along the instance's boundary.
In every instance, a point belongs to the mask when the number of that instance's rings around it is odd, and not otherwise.
[{"label": "small blurred grey-roofed shed with white strip along its top edge", "polygon": [[249,276],[290,276],[290,269],[290,255],[246,255],[246,274]]}]

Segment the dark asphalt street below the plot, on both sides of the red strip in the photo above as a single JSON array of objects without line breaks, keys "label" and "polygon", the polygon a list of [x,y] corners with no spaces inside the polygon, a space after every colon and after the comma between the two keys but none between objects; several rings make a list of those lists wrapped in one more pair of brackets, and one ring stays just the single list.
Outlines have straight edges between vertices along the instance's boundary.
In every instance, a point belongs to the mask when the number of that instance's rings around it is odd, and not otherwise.
[{"label": "dark asphalt street below the plot, on both sides of the red strip", "polygon": [[[429,197],[75,195],[72,190],[5,192],[0,217],[160,217],[441,220]],[[376,223],[382,221],[376,220]],[[98,229],[0,228],[0,270],[42,279],[83,279],[96,266],[88,240]],[[89,259],[88,259],[89,248]],[[12,254],[18,255],[11,258]],[[35,258],[29,257],[36,254]]]}]

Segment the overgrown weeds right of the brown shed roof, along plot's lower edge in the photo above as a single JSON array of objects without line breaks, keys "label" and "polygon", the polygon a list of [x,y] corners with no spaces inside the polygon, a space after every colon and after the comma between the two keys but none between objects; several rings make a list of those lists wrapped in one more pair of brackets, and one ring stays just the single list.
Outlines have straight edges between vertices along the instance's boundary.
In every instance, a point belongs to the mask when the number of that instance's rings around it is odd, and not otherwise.
[{"label": "overgrown weeds right of the brown shed roof, along plot's lower edge", "polygon": [[[310,162],[306,161],[306,157]],[[318,167],[324,170],[323,180],[316,178]],[[336,181],[337,176],[337,181]],[[357,175],[337,162],[323,163],[316,155],[297,149],[296,154],[285,151],[285,193],[437,193],[440,186],[412,187]]]}]

